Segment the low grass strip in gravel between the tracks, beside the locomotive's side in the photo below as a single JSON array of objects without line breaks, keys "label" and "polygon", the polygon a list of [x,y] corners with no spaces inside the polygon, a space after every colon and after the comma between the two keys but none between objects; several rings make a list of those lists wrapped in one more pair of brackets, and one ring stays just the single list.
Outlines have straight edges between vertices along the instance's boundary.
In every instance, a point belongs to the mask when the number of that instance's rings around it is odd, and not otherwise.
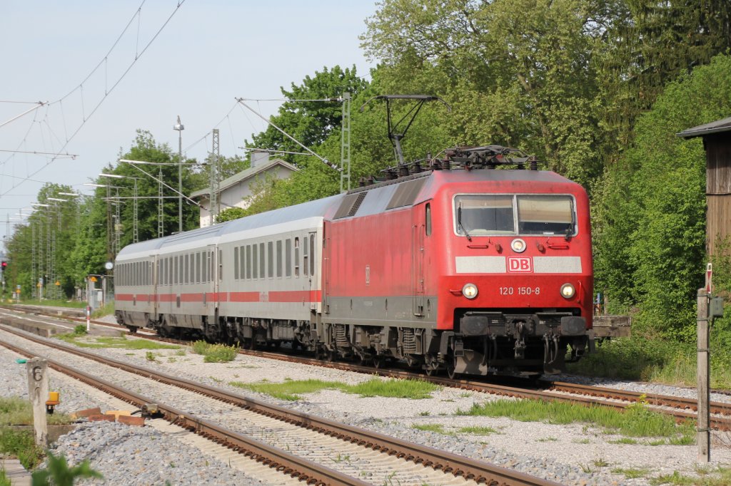
[{"label": "low grass strip in gravel between the tracks, beside the locomotive's side", "polygon": [[246,390],[265,393],[281,400],[295,401],[302,398],[303,393],[316,393],[320,390],[340,390],[361,397],[382,396],[387,398],[430,398],[431,393],[439,390],[437,385],[416,379],[379,379],[371,378],[357,385],[343,382],[327,382],[322,379],[285,380],[281,383],[230,382],[230,385]]}]

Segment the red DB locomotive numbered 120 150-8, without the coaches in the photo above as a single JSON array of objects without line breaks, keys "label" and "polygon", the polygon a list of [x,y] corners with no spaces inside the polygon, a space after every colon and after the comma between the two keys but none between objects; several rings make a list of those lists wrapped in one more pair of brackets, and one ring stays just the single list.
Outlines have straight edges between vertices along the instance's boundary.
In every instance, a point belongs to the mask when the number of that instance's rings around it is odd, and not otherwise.
[{"label": "red DB locomotive numbered 120 150-8, without the coaches", "polygon": [[[352,190],[333,207],[327,350],[450,376],[552,373],[591,350],[586,191],[511,152],[450,150],[432,170]],[[520,169],[496,169],[507,163]]]}]

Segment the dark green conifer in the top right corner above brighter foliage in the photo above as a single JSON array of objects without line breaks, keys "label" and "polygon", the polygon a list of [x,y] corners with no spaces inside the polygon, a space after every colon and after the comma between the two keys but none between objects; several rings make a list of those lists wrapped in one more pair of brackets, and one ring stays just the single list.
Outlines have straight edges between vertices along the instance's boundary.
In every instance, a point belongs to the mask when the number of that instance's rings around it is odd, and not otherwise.
[{"label": "dark green conifer in the top right corner above brighter foliage", "polygon": [[615,163],[632,143],[637,116],[664,86],[731,47],[731,4],[725,0],[607,2],[602,42],[594,53],[604,132],[602,158]]}]

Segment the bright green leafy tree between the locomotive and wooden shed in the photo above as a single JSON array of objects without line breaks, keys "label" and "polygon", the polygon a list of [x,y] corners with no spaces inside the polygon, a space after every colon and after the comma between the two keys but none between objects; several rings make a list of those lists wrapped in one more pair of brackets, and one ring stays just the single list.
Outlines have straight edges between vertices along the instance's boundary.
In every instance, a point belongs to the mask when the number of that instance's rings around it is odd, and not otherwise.
[{"label": "bright green leafy tree between the locomotive and wooden shed", "polygon": [[731,57],[719,55],[667,85],[596,193],[596,287],[639,306],[645,328],[694,335],[705,269],[705,155],[700,139],[675,134],[729,112]]}]

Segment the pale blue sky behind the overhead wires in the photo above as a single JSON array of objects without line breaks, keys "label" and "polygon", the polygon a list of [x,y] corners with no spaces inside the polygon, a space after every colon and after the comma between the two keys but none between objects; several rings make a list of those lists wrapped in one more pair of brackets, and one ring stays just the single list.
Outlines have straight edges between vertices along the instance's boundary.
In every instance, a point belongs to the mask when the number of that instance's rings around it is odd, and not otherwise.
[{"label": "pale blue sky behind the overhead wires", "polygon": [[[235,97],[280,98],[280,86],[299,84],[324,66],[355,65],[365,77],[374,66],[358,39],[366,18],[376,12],[373,1],[186,0],[99,104],[176,5],[175,0],[146,1],[135,16],[140,0],[2,2],[0,235],[7,234],[7,217],[29,207],[43,182],[90,193],[83,182],[128,149],[137,128],[176,150],[173,125],[180,115],[187,156],[205,158],[211,138],[204,137],[216,126],[221,154],[241,155],[237,147],[265,127],[256,115],[235,107]],[[7,101],[64,96],[60,104],[6,123],[34,107]],[[271,115],[279,104],[252,106]],[[74,159],[7,152],[56,153],[69,138],[63,152],[77,155]]]}]

